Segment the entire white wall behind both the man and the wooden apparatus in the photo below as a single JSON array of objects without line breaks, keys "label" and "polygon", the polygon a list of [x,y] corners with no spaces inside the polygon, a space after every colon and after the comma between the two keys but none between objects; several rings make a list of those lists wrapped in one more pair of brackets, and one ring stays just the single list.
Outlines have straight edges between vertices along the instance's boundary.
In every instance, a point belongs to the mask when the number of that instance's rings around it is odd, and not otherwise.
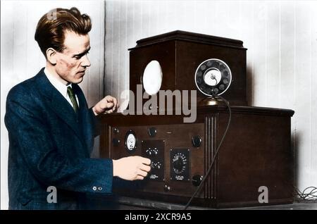
[{"label": "entire white wall behind both the man and the wooden apparatus", "polygon": [[173,30],[241,39],[248,49],[249,104],[295,111],[297,187],[317,186],[317,1],[107,0],[106,10],[103,0],[1,1],[1,209],[8,207],[6,95],[44,66],[35,27],[57,6],[77,6],[93,20],[92,67],[82,82],[90,106],[103,96],[104,66],[106,94],[120,97],[128,89],[128,48],[138,39]]}]

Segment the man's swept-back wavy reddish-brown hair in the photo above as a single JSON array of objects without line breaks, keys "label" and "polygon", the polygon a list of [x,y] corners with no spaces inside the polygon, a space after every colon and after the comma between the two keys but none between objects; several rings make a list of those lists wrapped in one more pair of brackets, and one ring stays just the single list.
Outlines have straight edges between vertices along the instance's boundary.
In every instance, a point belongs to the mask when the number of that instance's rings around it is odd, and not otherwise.
[{"label": "man's swept-back wavy reddish-brown hair", "polygon": [[91,29],[89,15],[81,15],[77,8],[54,8],[44,14],[37,23],[35,40],[46,58],[46,49],[50,47],[58,52],[65,49],[63,43],[66,31],[73,31],[77,35],[87,35]]}]

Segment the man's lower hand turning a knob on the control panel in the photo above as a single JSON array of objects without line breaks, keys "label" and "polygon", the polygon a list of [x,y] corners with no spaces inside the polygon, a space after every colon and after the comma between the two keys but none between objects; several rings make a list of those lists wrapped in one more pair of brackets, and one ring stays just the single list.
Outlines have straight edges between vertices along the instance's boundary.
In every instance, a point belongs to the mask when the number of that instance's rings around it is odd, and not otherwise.
[{"label": "man's lower hand turning a knob on the control panel", "polygon": [[124,180],[143,180],[151,170],[151,160],[141,156],[129,156],[113,160],[113,176]]}]

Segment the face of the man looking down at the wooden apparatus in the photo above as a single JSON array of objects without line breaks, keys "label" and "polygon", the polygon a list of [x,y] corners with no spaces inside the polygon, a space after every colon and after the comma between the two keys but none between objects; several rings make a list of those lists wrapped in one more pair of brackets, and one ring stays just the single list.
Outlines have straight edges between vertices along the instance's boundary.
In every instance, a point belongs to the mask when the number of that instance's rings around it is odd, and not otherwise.
[{"label": "face of the man looking down at the wooden apparatus", "polygon": [[77,35],[66,31],[63,52],[57,52],[56,73],[66,82],[82,82],[85,70],[90,66],[87,53],[90,49],[89,35]]}]

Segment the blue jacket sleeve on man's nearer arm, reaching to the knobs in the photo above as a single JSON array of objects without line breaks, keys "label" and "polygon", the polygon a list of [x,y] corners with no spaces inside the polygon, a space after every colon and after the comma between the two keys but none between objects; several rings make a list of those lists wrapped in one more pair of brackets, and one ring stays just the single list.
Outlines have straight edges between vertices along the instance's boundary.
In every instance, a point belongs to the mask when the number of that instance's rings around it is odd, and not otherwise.
[{"label": "blue jacket sleeve on man's nearer arm, reaching to the knobs", "polygon": [[30,91],[15,87],[9,92],[5,123],[11,150],[39,182],[75,192],[111,192],[112,160],[69,158],[58,153],[37,99]]}]

